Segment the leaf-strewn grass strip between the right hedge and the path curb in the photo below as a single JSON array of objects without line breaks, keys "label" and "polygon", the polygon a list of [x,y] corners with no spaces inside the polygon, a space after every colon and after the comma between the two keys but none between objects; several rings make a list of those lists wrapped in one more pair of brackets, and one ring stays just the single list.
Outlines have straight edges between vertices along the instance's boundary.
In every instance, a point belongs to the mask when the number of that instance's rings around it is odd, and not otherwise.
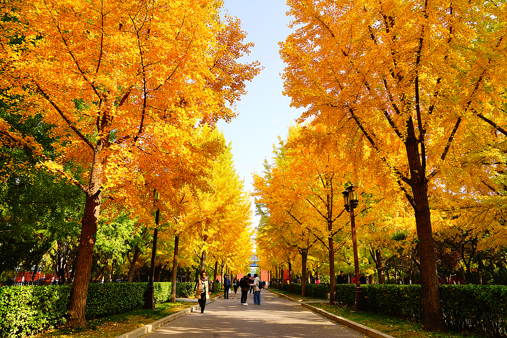
[{"label": "leaf-strewn grass strip between the right hedge and the path curb", "polygon": [[327,303],[311,305],[397,338],[484,338],[483,336],[474,335],[469,332],[424,331],[420,322],[411,322],[407,319],[390,317],[378,313],[355,312],[341,305],[329,305]]}]

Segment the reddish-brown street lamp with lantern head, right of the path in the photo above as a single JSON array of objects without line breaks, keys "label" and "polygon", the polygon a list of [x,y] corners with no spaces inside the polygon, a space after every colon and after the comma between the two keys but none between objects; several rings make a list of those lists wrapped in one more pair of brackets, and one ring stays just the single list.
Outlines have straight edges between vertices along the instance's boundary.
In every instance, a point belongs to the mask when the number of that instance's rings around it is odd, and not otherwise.
[{"label": "reddish-brown street lamp with lantern head, right of the path", "polygon": [[347,187],[347,190],[342,192],[343,202],[345,209],[350,212],[350,226],[352,228],[352,246],[354,248],[354,267],[355,267],[355,297],[354,297],[354,311],[366,311],[365,295],[361,282],[359,281],[359,258],[357,257],[357,240],[355,236],[355,220],[354,208],[359,203],[357,192],[354,191],[354,184]]}]

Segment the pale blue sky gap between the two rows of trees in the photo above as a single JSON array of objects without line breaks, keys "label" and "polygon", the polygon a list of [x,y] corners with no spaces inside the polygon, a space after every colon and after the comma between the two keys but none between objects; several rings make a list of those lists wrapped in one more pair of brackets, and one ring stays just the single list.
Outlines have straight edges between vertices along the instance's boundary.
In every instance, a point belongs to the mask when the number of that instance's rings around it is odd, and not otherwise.
[{"label": "pale blue sky gap between the two rows of trees", "polygon": [[[250,55],[243,59],[258,60],[264,67],[246,84],[248,93],[236,107],[238,117],[228,124],[222,121],[218,124],[225,138],[232,141],[236,171],[244,178],[246,190],[252,191],[251,173],[263,170],[264,159],[271,158],[278,135],[285,138],[287,127],[301,115],[289,107],[290,98],[282,95],[280,73],[284,64],[278,53],[278,42],[291,33],[285,15],[288,7],[284,0],[225,0],[225,8],[241,20],[243,30],[248,33],[245,41],[255,43]],[[254,216],[253,226],[258,222],[259,218]]]}]

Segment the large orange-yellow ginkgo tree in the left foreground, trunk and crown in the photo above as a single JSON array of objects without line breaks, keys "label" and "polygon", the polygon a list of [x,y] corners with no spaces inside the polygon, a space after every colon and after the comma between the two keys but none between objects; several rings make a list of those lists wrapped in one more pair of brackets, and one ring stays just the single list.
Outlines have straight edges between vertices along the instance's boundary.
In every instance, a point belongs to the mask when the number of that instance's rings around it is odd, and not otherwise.
[{"label": "large orange-yellow ginkgo tree in the left foreground, trunk and crown", "polygon": [[[33,153],[86,195],[70,326],[86,326],[91,258],[108,189],[117,180],[142,184],[143,173],[125,168],[164,156],[172,159],[163,168],[171,173],[166,179],[182,168],[198,170],[202,161],[186,142],[196,122],[233,118],[230,105],[259,72],[257,62],[236,61],[251,45],[242,43],[237,20],[221,18],[221,6],[15,0],[2,7],[8,17],[0,28],[2,100],[54,125],[59,156],[50,160],[5,120],[2,142]],[[79,177],[65,170],[69,161],[85,169]]]}]

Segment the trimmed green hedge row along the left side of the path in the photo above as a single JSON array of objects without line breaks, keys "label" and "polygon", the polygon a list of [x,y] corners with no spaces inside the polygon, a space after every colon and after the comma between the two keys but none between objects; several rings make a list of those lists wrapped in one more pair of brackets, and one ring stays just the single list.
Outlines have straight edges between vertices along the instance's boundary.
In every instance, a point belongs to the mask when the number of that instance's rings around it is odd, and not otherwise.
[{"label": "trimmed green hedge row along the left side of the path", "polygon": [[[153,284],[156,303],[171,299],[171,282]],[[86,317],[140,309],[147,286],[148,283],[90,284]],[[190,296],[193,288],[194,283],[177,283],[176,295]],[[71,291],[71,285],[0,287],[0,337],[25,337],[64,325]]]}]

